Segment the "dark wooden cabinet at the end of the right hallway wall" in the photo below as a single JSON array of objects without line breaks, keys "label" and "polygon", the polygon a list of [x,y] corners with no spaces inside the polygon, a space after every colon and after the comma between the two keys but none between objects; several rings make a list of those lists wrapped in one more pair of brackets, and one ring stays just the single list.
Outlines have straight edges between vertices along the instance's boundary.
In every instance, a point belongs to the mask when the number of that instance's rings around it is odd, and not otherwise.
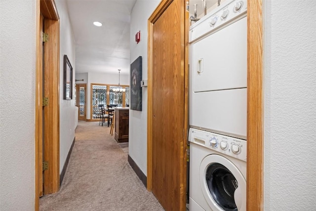
[{"label": "dark wooden cabinet at the end of the right hallway wall", "polygon": [[128,141],[128,108],[115,108],[115,135],[117,142]]}]

